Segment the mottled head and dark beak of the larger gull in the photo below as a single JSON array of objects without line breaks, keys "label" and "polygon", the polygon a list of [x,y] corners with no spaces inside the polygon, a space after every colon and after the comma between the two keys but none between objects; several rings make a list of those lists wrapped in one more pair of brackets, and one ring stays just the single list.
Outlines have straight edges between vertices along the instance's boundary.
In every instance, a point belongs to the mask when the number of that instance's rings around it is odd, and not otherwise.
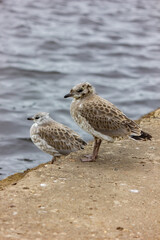
[{"label": "mottled head and dark beak of the larger gull", "polygon": [[74,86],[64,98],[73,97],[75,99],[80,99],[94,93],[94,87],[90,83],[84,82]]}]

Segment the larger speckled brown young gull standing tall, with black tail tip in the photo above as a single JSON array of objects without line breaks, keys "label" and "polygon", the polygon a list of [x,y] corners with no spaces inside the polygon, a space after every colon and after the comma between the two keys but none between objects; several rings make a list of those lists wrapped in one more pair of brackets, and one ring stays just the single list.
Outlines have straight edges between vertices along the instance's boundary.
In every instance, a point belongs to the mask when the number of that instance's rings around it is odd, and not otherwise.
[{"label": "larger speckled brown young gull standing tall, with black tail tip", "polygon": [[75,122],[94,137],[93,154],[82,161],[95,161],[102,140],[113,142],[116,137],[130,136],[136,140],[151,139],[131,119],[127,118],[115,105],[95,93],[88,83],[74,86],[64,98],[73,97],[71,115]]}]

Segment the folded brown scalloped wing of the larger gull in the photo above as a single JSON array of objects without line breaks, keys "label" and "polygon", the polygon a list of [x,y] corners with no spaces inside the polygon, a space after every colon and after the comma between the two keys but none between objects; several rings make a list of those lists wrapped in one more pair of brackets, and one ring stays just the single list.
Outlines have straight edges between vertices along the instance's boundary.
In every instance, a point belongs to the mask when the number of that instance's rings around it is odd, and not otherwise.
[{"label": "folded brown scalloped wing of the larger gull", "polygon": [[94,130],[110,137],[141,133],[140,127],[134,121],[127,118],[115,105],[97,95],[94,101],[83,102],[78,108],[78,114]]}]

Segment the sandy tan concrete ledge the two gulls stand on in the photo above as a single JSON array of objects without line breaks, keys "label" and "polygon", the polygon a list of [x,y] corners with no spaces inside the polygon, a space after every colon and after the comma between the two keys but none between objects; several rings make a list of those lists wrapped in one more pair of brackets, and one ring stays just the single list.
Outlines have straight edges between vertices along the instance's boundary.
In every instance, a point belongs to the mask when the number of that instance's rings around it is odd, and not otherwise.
[{"label": "sandy tan concrete ledge the two gulls stand on", "polygon": [[140,120],[152,141],[104,142],[1,181],[0,239],[160,239],[160,109]]}]

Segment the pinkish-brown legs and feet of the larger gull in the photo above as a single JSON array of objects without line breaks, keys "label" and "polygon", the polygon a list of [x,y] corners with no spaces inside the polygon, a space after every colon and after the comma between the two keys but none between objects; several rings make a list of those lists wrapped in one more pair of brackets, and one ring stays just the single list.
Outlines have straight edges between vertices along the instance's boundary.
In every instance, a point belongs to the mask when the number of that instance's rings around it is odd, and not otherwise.
[{"label": "pinkish-brown legs and feet of the larger gull", "polygon": [[102,140],[94,137],[94,147],[93,147],[93,153],[92,155],[85,155],[86,158],[82,158],[82,162],[94,162],[96,161],[96,158],[98,157],[98,150],[101,145]]}]

